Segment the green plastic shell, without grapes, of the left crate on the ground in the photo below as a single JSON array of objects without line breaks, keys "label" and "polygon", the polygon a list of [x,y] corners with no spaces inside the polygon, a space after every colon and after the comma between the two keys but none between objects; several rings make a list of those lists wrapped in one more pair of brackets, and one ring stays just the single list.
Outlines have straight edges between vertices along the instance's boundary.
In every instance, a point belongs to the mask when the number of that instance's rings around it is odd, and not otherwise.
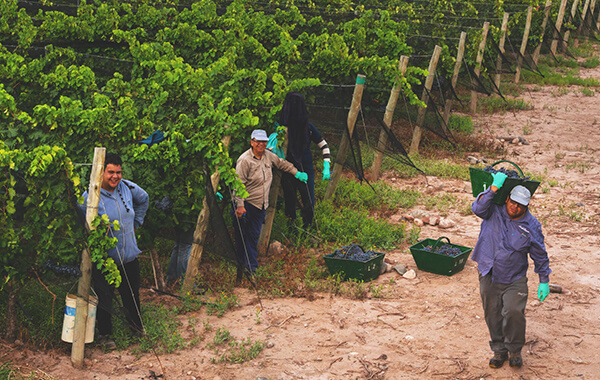
[{"label": "green plastic shell, without grapes, of the left crate on the ground", "polygon": [[385,257],[384,252],[376,252],[375,257],[367,261],[354,261],[334,257],[335,253],[323,256],[325,265],[331,274],[342,274],[344,280],[354,279],[369,282],[381,273],[381,265]]}]

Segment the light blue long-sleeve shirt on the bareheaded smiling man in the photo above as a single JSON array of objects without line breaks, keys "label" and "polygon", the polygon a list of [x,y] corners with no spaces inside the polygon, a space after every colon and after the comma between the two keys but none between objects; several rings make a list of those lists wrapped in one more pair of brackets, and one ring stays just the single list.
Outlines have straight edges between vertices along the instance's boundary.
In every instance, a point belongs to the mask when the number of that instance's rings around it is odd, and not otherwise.
[{"label": "light blue long-sleeve shirt on the bareheaded smiling man", "polygon": [[[85,212],[87,191],[83,197],[85,202],[81,207]],[[108,257],[112,257],[117,265],[127,264],[140,254],[135,229],[144,224],[148,204],[148,193],[131,181],[121,180],[112,193],[100,190],[98,215],[106,214],[111,221],[118,220],[121,227],[118,231],[111,227],[108,232],[109,236],[118,239],[117,246],[108,251]]]}]

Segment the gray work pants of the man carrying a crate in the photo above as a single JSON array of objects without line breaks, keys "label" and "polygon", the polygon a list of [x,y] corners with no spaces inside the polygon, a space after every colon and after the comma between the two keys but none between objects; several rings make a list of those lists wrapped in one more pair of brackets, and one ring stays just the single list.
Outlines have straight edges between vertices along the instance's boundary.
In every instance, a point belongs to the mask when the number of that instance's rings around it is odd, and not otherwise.
[{"label": "gray work pants of the man carrying a crate", "polygon": [[521,352],[525,344],[527,277],[511,284],[492,282],[492,273],[479,274],[479,292],[494,352]]}]

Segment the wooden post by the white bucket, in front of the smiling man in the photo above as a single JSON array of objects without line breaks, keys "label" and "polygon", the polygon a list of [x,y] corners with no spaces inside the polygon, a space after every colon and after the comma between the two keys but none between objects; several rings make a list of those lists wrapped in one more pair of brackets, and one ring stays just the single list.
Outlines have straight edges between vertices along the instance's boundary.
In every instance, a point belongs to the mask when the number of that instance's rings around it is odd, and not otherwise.
[{"label": "wooden post by the white bucket, in front of the smiling man", "polygon": [[[100,204],[100,189],[102,188],[102,174],[104,173],[104,157],[106,148],[94,148],[94,162],[90,174],[88,199],[85,213],[85,226],[88,231],[92,221],[98,215]],[[75,326],[73,328],[73,345],[71,346],[71,363],[75,368],[83,367],[85,353],[85,331],[88,317],[88,302],[90,298],[90,285],[92,283],[92,260],[89,248],[84,248],[81,255],[81,278],[77,284],[77,301],[75,303]]]}]

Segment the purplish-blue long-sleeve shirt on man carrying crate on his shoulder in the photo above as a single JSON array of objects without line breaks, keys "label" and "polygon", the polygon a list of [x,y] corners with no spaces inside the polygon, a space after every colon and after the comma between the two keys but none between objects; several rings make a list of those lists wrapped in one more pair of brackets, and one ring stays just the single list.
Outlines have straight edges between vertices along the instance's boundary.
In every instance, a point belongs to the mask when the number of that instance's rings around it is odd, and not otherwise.
[{"label": "purplish-blue long-sleeve shirt on man carrying crate on his shoulder", "polygon": [[519,219],[510,219],[506,205],[492,202],[495,194],[488,188],[471,206],[483,219],[471,259],[482,276],[493,268],[492,282],[510,284],[527,275],[529,253],[540,282],[547,283],[552,270],[540,222],[529,210]]}]

